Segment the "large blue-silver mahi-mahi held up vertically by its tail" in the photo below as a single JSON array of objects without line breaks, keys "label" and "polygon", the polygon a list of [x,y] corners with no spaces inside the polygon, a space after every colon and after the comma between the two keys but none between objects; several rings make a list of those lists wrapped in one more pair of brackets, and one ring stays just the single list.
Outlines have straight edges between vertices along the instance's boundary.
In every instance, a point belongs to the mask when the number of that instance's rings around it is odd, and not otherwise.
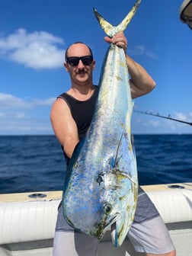
[{"label": "large blue-silver mahi-mahi held up vertically by its tail", "polygon": [[[140,0],[113,27],[96,10],[109,37],[126,29]],[[76,147],[63,190],[63,215],[75,229],[101,239],[111,227],[114,246],[122,245],[137,202],[136,155],[130,120],[133,111],[129,73],[122,48],[111,44],[103,63],[98,101],[85,139]]]}]

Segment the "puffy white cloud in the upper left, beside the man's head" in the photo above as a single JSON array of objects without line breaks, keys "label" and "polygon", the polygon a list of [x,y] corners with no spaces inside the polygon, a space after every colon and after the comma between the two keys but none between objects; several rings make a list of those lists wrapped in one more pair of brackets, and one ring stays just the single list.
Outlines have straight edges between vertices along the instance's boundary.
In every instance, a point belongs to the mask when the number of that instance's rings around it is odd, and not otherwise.
[{"label": "puffy white cloud in the upper left, beside the man's head", "polygon": [[0,37],[0,57],[32,69],[56,69],[64,59],[63,40],[45,31],[27,33],[20,28]]}]

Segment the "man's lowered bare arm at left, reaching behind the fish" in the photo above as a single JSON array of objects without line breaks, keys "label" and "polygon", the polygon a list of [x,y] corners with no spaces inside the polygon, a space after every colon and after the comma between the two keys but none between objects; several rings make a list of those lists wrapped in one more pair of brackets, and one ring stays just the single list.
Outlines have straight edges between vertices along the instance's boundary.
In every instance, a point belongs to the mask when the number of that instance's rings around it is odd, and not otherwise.
[{"label": "man's lowered bare arm at left, reaching behind the fish", "polygon": [[71,158],[78,139],[78,129],[75,120],[72,118],[66,101],[58,98],[50,112],[50,120],[53,126],[56,138],[63,146],[66,155]]}]

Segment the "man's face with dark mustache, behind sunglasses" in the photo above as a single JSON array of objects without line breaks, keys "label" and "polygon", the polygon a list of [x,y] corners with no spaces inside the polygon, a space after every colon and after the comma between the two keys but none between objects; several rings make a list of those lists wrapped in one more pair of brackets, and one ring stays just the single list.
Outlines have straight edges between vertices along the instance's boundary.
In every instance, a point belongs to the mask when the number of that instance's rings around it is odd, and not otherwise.
[{"label": "man's face with dark mustache, behind sunglasses", "polygon": [[[69,47],[67,57],[82,57],[82,56],[91,56],[90,50],[83,43],[75,43]],[[65,62],[64,66],[66,71],[69,72],[72,83],[75,85],[87,85],[92,83],[92,71],[95,66],[95,61],[93,60],[90,64],[84,59],[78,59],[75,63],[75,66],[70,65],[70,62]],[[87,65],[89,64],[89,65]]]}]

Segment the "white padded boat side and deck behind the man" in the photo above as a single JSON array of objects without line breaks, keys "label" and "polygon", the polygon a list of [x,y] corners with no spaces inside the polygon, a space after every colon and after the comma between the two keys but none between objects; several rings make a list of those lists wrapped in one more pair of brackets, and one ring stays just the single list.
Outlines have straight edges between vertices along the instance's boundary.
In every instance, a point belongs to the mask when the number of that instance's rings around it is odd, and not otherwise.
[{"label": "white padded boat side and deck behind the man", "polygon": [[[177,256],[192,255],[192,183],[147,185],[142,189],[164,219]],[[61,198],[60,190],[0,194],[0,255],[51,256]],[[98,246],[98,256],[106,255],[143,254],[133,250],[128,238],[115,248],[107,231]]]}]

